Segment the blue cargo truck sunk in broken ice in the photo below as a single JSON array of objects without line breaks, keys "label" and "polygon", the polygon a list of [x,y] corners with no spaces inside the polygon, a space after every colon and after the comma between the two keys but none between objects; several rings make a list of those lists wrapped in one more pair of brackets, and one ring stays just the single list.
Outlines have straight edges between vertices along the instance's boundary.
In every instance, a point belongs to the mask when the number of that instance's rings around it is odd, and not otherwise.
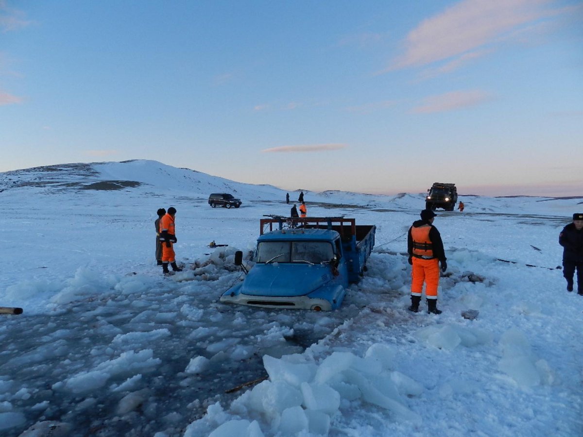
[{"label": "blue cargo truck sunk in broken ice", "polygon": [[[286,223],[288,227],[286,228]],[[229,288],[221,302],[266,308],[332,311],[350,283],[366,271],[374,247],[374,225],[354,218],[262,218],[255,265]],[[242,252],[236,265],[242,265]]]}]

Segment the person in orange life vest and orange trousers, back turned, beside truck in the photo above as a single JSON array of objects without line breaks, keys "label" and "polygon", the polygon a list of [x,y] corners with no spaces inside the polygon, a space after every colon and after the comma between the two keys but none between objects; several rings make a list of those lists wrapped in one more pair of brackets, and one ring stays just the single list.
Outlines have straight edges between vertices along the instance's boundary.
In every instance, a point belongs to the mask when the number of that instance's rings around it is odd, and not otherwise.
[{"label": "person in orange life vest and orange trousers, back turned, beside truck", "polygon": [[447,270],[445,251],[441,235],[433,225],[436,214],[430,209],[424,209],[420,216],[421,220],[414,221],[409,228],[407,237],[409,264],[413,266],[409,311],[419,312],[423,282],[425,282],[427,312],[441,314],[441,311],[437,309],[437,287],[439,286],[440,263],[441,271]]}]

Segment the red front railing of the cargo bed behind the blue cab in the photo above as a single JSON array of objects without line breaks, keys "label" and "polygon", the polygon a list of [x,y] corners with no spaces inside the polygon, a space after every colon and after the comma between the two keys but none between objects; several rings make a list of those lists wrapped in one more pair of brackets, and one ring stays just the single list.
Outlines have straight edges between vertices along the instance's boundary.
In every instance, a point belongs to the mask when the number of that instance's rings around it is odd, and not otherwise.
[{"label": "red front railing of the cargo bed behind the blue cab", "polygon": [[[282,230],[284,227],[301,229],[333,229],[338,231],[340,238],[356,236],[356,219],[343,217],[273,217],[259,220],[261,229],[259,234],[273,230]],[[274,229],[274,226],[275,229]],[[268,226],[269,225],[269,226]],[[268,230],[269,227],[269,230]]]}]

